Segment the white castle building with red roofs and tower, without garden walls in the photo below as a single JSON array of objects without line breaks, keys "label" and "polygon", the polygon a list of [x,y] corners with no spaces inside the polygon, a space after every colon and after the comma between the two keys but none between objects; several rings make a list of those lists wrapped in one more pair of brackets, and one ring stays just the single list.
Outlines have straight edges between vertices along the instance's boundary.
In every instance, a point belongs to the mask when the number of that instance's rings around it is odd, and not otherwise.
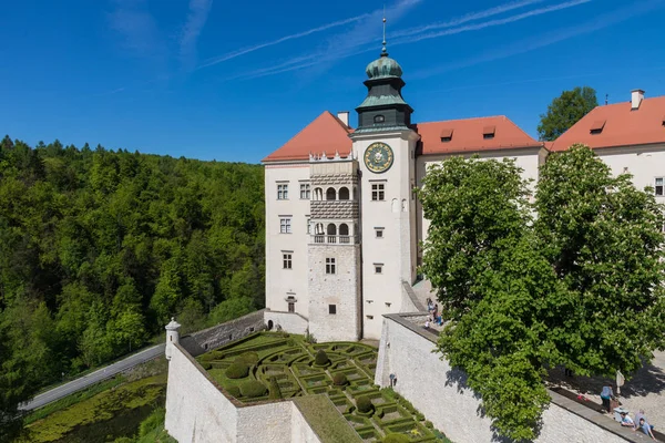
[{"label": "white castle building with red roofs and tower, without garden walls", "polygon": [[665,96],[635,90],[630,103],[598,106],[548,143],[505,116],[413,123],[402,70],[385,47],[366,73],[357,127],[348,112],[324,112],[263,159],[269,326],[321,341],[378,340],[382,316],[420,310],[428,220],[413,190],[453,155],[513,158],[534,185],[550,152],[584,143],[663,197]]}]

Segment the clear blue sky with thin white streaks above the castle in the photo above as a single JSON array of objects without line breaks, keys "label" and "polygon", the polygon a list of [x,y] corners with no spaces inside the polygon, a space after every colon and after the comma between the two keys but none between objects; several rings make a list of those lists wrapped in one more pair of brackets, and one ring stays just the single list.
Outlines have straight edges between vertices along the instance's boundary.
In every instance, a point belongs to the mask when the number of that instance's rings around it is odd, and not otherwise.
[{"label": "clear blue sky with thin white streaks above the castle", "polygon": [[[1,7],[0,132],[30,144],[259,162],[362,101],[375,0],[21,0]],[[416,122],[508,115],[563,90],[665,94],[665,0],[388,0]]]}]

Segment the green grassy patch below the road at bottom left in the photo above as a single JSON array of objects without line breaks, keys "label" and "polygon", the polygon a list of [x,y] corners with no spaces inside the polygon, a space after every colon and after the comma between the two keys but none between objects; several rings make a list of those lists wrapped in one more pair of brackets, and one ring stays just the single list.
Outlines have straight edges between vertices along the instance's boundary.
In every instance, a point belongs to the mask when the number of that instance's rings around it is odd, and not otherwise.
[{"label": "green grassy patch below the road at bottom left", "polygon": [[[82,436],[70,441],[86,441],[86,434],[100,434],[99,425],[121,418],[111,431],[104,427],[103,435],[127,432],[126,426],[137,425],[137,419],[143,419],[154,405],[162,403],[166,391],[166,374],[150,377],[131,383],[121,384],[110,390],[96,393],[68,408],[52,412],[44,419],[32,422],[27,426],[29,442],[68,441],[73,431],[82,432]],[[129,420],[129,419],[132,420]],[[109,423],[106,423],[109,424]],[[117,435],[117,434],[116,434]],[[126,434],[125,434],[126,435]]]}]

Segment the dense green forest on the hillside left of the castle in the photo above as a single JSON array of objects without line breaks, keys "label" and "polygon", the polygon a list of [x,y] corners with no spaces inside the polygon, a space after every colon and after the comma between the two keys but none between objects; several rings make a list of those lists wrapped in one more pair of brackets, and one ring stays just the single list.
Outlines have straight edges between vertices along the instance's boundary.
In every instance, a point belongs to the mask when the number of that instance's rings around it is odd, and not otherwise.
[{"label": "dense green forest on the hillside left of the castle", "polygon": [[[55,381],[264,302],[264,175],[102,146],[0,143],[0,388]],[[9,389],[8,387],[13,387]]]}]

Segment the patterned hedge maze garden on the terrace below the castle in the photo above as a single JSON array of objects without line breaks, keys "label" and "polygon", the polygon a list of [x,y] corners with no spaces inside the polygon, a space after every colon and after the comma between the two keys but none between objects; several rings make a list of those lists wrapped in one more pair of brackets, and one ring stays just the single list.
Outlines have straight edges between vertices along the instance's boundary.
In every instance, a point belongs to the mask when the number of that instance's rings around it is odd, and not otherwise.
[{"label": "patterned hedge maze garden on the terrace below the castle", "polygon": [[258,332],[197,360],[243,403],[325,394],[367,442],[448,441],[411,403],[374,384],[377,350],[361,343]]}]

